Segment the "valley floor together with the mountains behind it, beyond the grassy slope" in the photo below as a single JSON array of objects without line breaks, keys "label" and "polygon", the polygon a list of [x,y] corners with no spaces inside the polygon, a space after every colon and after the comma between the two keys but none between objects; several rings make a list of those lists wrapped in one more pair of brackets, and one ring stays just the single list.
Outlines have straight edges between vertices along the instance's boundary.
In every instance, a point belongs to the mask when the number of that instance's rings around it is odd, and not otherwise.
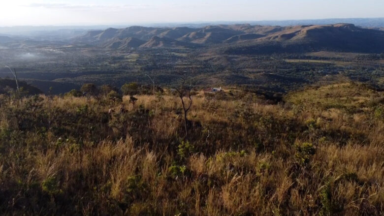
[{"label": "valley floor together with the mountains behind it, beyond the grassy slope", "polygon": [[[331,36],[330,36],[331,35]],[[47,93],[84,83],[166,86],[192,76],[196,86],[243,85],[285,93],[340,77],[383,88],[384,31],[351,24],[129,27],[88,31],[67,41],[1,40],[0,62]],[[0,77],[9,77],[0,68]]]}]

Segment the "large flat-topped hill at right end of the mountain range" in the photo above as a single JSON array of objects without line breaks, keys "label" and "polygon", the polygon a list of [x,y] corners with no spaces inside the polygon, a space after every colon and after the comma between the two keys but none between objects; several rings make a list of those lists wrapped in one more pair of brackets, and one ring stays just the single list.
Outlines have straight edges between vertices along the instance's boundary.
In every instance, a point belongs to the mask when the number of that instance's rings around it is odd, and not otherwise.
[{"label": "large flat-topped hill at right end of the mountain range", "polygon": [[[236,47],[235,47],[236,46]],[[227,53],[274,52],[384,52],[384,31],[362,29],[351,24],[295,26],[252,41],[238,42]]]}]

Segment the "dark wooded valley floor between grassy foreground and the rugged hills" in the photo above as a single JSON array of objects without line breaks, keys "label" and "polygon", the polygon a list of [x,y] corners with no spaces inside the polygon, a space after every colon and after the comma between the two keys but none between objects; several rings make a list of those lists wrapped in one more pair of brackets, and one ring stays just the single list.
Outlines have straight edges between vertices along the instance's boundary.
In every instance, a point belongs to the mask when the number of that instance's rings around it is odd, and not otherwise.
[{"label": "dark wooded valley floor between grassy foreground and the rugged hills", "polygon": [[[342,75],[384,88],[383,55],[349,52],[223,54],[212,46],[199,49],[159,48],[116,50],[88,46],[42,45],[0,49],[0,62],[16,68],[21,80],[44,93],[66,93],[85,83],[125,83],[166,87],[192,76],[195,86],[251,86],[287,93],[323,78]],[[11,77],[0,68],[0,77]],[[50,90],[50,87],[52,89]]]}]

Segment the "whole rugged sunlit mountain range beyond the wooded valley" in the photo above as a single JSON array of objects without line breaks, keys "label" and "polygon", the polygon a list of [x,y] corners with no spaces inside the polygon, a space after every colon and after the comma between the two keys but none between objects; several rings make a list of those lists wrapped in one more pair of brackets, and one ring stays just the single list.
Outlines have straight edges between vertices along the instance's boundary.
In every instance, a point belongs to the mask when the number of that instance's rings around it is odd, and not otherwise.
[{"label": "whole rugged sunlit mountain range beyond the wooded valley", "polygon": [[133,26],[89,31],[74,43],[111,49],[193,48],[224,44],[224,52],[271,53],[316,50],[384,52],[384,31],[353,24],[259,26],[250,24],[203,28],[154,28]]}]

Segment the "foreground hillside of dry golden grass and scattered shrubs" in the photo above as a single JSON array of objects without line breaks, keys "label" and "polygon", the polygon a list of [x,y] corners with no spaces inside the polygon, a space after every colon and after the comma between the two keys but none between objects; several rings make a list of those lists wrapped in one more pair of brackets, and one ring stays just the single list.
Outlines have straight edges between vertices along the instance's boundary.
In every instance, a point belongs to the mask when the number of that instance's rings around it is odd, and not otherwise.
[{"label": "foreground hillside of dry golden grass and scattered shrubs", "polygon": [[188,136],[172,92],[135,97],[1,95],[2,215],[384,212],[383,92],[194,92]]}]

